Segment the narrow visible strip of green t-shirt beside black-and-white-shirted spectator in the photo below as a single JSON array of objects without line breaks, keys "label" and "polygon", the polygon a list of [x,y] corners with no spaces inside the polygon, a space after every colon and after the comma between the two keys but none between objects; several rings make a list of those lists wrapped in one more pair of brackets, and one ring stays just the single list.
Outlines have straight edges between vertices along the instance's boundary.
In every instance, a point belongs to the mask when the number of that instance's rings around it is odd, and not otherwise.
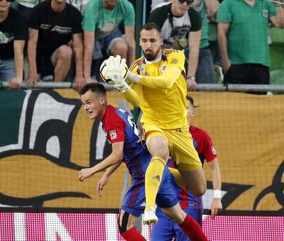
[{"label": "narrow visible strip of green t-shirt beside black-and-white-shirted spectator", "polygon": [[195,9],[198,13],[200,13],[200,18],[202,21],[200,48],[202,49],[209,45],[208,19],[207,19],[207,10],[204,4],[204,0],[195,1],[195,4],[190,7]]}]

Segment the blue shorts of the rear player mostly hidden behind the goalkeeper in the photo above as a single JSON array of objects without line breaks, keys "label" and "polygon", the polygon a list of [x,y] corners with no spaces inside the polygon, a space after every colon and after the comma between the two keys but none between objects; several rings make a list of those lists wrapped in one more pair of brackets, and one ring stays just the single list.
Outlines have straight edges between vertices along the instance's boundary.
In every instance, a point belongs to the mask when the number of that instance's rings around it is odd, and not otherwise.
[{"label": "blue shorts of the rear player mostly hidden behind the goalkeeper", "polygon": [[[185,213],[194,218],[202,226],[202,209],[183,209]],[[151,241],[190,241],[190,238],[185,235],[180,226],[173,220],[170,220],[160,208],[157,208],[155,214],[158,217],[158,223],[153,225]]]}]

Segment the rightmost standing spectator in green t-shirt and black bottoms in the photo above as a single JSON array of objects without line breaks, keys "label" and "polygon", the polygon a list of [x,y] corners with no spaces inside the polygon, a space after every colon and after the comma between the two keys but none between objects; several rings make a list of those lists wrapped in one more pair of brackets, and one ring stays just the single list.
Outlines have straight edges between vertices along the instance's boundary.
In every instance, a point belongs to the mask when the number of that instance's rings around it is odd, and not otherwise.
[{"label": "rightmost standing spectator in green t-shirt and black bottoms", "polygon": [[[278,0],[277,0],[278,1]],[[224,83],[269,84],[268,22],[283,28],[284,11],[265,0],[224,0],[217,13]]]}]

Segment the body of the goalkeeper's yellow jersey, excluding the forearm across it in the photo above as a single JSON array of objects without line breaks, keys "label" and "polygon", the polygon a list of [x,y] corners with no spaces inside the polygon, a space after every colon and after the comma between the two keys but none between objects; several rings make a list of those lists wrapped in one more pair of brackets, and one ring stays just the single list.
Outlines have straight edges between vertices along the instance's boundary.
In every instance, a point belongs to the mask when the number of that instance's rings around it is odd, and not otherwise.
[{"label": "body of the goalkeeper's yellow jersey, excluding the forearm across it", "polygon": [[180,50],[165,49],[162,50],[158,60],[149,62],[144,57],[140,57],[129,68],[134,74],[146,77],[141,80],[148,79],[155,84],[160,78],[149,78],[160,77],[170,65],[178,67],[181,71],[179,76],[178,74],[174,76],[171,72],[168,74],[168,79],[176,79],[173,86],[161,89],[141,85],[143,95],[140,96],[142,99],[140,108],[143,111],[141,122],[157,125],[162,129],[175,129],[187,125],[185,55]]}]

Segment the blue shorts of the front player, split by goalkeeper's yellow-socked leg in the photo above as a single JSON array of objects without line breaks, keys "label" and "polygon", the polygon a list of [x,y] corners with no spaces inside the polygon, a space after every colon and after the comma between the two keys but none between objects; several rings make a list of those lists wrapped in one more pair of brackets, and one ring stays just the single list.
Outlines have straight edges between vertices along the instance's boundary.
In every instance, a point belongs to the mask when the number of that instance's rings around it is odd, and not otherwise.
[{"label": "blue shorts of the front player, split by goalkeeper's yellow-socked leg", "polygon": [[[121,209],[138,217],[143,213],[145,203],[145,181],[144,179],[133,179],[129,191],[124,197]],[[175,194],[174,184],[170,178],[168,168],[164,169],[155,203],[160,208],[171,208],[178,203],[178,196]]]}]

